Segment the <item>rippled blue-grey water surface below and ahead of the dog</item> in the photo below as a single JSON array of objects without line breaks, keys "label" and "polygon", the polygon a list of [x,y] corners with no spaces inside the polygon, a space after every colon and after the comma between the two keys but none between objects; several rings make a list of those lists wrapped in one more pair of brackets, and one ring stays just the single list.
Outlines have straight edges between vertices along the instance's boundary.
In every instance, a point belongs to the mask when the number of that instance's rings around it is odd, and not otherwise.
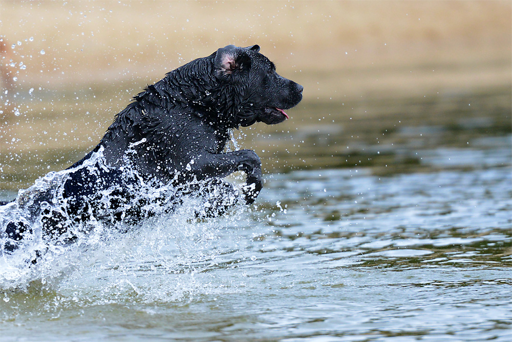
[{"label": "rippled blue-grey water surface below and ahead of the dog", "polygon": [[1,340],[510,341],[509,115],[302,127],[255,206],[4,255]]}]

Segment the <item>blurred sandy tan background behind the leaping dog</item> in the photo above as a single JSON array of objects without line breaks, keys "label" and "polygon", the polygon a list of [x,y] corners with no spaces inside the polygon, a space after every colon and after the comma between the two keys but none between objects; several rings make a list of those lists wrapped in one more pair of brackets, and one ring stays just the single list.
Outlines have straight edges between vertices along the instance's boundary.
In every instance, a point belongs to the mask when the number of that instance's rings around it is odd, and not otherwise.
[{"label": "blurred sandy tan background behind the leaping dog", "polygon": [[411,99],[462,106],[451,99],[495,94],[485,106],[508,112],[508,129],[511,17],[510,1],[2,0],[0,190],[69,166],[146,84],[228,44],[259,44],[305,87],[291,120],[247,131],[267,150],[281,148],[257,132],[375,124]]}]

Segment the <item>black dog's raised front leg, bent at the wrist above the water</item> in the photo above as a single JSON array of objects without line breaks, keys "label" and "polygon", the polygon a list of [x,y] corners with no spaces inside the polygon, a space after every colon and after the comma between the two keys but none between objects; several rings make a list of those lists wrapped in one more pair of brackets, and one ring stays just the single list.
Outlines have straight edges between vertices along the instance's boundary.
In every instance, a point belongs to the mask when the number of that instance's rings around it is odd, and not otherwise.
[{"label": "black dog's raised front leg, bent at the wrist above the water", "polygon": [[254,202],[263,186],[260,157],[251,150],[206,153],[194,160],[190,168],[197,179],[224,177],[236,171],[244,171],[247,175],[247,185],[244,187],[247,204]]}]

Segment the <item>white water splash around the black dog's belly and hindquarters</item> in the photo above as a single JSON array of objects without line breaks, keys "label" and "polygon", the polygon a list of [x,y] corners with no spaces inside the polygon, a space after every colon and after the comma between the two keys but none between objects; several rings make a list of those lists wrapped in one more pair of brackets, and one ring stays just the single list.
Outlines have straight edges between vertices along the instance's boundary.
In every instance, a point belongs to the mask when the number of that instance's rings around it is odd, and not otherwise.
[{"label": "white water splash around the black dog's belly and hindquarters", "polygon": [[[97,204],[75,216],[68,210],[72,201],[64,195],[66,182],[76,172],[94,175],[107,170],[102,148],[80,166],[39,178],[0,207],[1,292],[28,291],[34,286],[51,290],[62,281],[80,288],[79,279],[87,274],[84,290],[97,281],[102,291],[122,288],[142,296],[147,288],[134,278],[144,270],[161,271],[162,276],[193,275],[198,267],[208,267],[219,253],[211,248],[222,228],[215,217],[227,210],[230,219],[236,220],[245,208],[241,192],[220,179],[178,187],[172,182],[144,182],[134,168],[121,169],[123,179],[136,180],[127,195],[122,193],[126,197],[119,198],[115,186],[101,189],[95,194]],[[130,216],[135,207],[140,220]],[[30,227],[18,242],[5,232],[12,222]],[[9,244],[15,244],[12,251],[6,247]],[[168,282],[160,280],[162,284],[153,285],[166,287]],[[194,281],[189,279],[188,284]],[[169,295],[170,289],[165,291]],[[151,292],[151,297],[162,295]]]}]

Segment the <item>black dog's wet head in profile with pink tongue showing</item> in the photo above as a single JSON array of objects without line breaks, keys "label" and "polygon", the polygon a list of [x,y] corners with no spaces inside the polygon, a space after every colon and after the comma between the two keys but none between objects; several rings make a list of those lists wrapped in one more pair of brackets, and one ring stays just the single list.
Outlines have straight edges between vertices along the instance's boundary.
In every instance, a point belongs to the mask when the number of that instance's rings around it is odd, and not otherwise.
[{"label": "black dog's wet head in profile with pink tongue showing", "polygon": [[228,45],[215,53],[216,76],[230,85],[230,96],[238,98],[235,120],[244,127],[255,122],[283,122],[288,118],[284,110],[302,99],[303,87],[276,73],[275,65],[259,51],[258,45]]}]

